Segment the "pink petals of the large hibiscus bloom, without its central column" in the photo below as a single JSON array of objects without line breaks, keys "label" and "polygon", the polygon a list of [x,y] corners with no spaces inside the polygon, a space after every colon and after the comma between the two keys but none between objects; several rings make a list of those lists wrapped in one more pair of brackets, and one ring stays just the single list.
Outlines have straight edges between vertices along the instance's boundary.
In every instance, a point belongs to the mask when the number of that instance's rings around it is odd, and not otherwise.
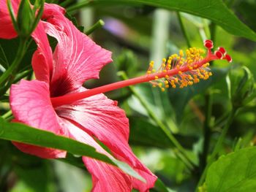
[{"label": "pink petals of the large hibiscus bloom, without its central column", "polygon": [[[10,106],[15,120],[84,142],[99,153],[110,156],[95,141],[97,138],[116,158],[132,166],[146,179],[146,183],[142,183],[115,166],[83,157],[92,174],[93,191],[119,192],[132,191],[132,188],[148,191],[154,187],[157,177],[132,153],[128,145],[129,121],[116,101],[97,94],[59,107],[53,107],[51,103],[51,97],[86,91],[83,82],[98,78],[100,69],[112,61],[108,50],[80,33],[63,14],[61,7],[45,4],[43,18],[47,21],[40,21],[32,34],[38,46],[32,58],[37,80],[21,80],[11,87]],[[12,30],[11,27],[7,29]],[[54,53],[45,32],[58,41]],[[15,32],[12,36],[1,37],[15,37]],[[14,144],[23,152],[42,158],[64,158],[66,155],[61,150]]]}]

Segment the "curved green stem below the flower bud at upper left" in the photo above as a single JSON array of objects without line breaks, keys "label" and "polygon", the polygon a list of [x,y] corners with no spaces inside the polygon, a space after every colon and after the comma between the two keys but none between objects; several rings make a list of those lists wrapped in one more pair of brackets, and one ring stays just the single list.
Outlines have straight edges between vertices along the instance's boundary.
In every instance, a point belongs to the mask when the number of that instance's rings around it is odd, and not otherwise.
[{"label": "curved green stem below the flower bud at upper left", "polygon": [[20,45],[18,47],[18,52],[16,54],[15,60],[12,61],[10,67],[1,75],[0,85],[3,85],[6,80],[10,77],[10,74],[17,68],[26,53],[26,39],[20,38]]}]

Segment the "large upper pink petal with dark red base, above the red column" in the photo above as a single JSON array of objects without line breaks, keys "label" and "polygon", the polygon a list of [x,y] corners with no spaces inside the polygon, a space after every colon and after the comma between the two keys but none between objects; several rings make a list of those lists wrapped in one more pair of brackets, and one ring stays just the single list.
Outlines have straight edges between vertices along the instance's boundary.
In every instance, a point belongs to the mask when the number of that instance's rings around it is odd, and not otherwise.
[{"label": "large upper pink petal with dark red base, above the red column", "polygon": [[[50,11],[49,11],[50,9]],[[96,45],[64,17],[58,6],[45,4],[46,32],[58,40],[53,54],[52,96],[60,96],[80,88],[83,82],[99,77],[99,71],[110,63],[111,53]]]}]

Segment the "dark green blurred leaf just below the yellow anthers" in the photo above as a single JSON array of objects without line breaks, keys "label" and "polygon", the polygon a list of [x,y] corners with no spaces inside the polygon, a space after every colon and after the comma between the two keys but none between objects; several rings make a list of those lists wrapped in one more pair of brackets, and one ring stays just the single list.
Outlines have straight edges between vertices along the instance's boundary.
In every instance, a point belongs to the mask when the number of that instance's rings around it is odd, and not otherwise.
[{"label": "dark green blurred leaf just below the yellow anthers", "polygon": [[192,99],[192,97],[196,96],[199,93],[203,93],[209,88],[211,85],[214,85],[216,82],[224,78],[228,72],[228,69],[211,69],[213,76],[211,76],[208,80],[201,80],[199,83],[189,86],[187,88],[170,88],[168,93],[170,97],[170,101],[173,104],[173,108],[177,114],[177,120],[181,120],[182,114],[184,111],[184,107],[186,107],[187,102]]}]

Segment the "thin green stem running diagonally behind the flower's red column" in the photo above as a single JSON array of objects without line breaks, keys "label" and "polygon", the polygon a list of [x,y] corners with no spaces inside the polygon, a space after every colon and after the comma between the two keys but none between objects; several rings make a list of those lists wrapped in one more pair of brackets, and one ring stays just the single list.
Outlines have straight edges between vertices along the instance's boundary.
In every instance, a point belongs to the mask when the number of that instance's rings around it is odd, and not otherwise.
[{"label": "thin green stem running diagonally behind the flower's red column", "polygon": [[[127,80],[127,74],[125,74],[125,72],[119,72],[118,73],[119,76],[121,76],[124,80]],[[146,104],[145,99],[143,99],[140,94],[135,90],[134,87],[129,86],[130,91],[132,91],[132,93],[137,97],[137,99],[140,101],[140,103],[143,105],[143,107],[146,109],[146,111],[148,112],[148,115],[157,123],[157,125],[159,126],[159,128],[162,129],[162,131],[164,131],[164,133],[166,134],[166,136],[168,137],[168,139],[170,139],[170,142],[172,142],[172,144],[176,147],[176,150],[173,150],[174,153],[176,153],[177,157],[181,159],[181,161],[184,162],[184,164],[186,164],[186,166],[192,170],[193,169],[193,162],[190,160],[190,158],[187,156],[186,151],[184,150],[184,148],[181,146],[181,144],[178,142],[178,140],[173,137],[173,134],[171,134],[170,130],[162,123],[161,120],[159,120],[159,118],[157,118],[157,116],[155,115],[155,113],[151,110],[150,107],[148,107],[148,104]]]}]

